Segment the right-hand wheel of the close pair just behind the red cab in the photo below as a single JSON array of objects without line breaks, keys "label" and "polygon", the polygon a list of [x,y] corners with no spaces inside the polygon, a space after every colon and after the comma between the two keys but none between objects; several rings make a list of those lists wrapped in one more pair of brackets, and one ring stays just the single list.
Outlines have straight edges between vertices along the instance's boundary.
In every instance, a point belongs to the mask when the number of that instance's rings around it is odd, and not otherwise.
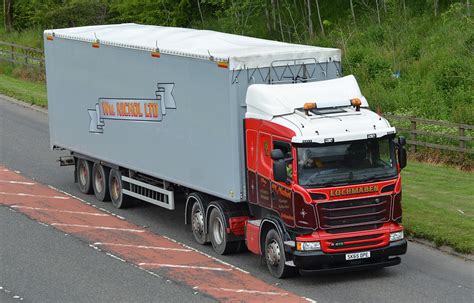
[{"label": "right-hand wheel of the close pair just behind the red cab", "polygon": [[227,241],[226,225],[224,215],[218,208],[211,210],[209,216],[209,238],[211,240],[212,248],[220,255],[227,255],[235,253],[240,248],[241,241]]}]

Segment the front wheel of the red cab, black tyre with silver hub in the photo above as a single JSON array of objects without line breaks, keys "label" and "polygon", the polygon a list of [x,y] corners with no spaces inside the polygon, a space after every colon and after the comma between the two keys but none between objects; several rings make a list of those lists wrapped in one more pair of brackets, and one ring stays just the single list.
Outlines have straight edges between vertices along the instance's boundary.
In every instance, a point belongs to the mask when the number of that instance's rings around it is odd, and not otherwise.
[{"label": "front wheel of the red cab, black tyre with silver hub", "polygon": [[265,262],[270,273],[278,278],[284,279],[298,274],[296,267],[288,266],[286,262],[285,247],[281,236],[275,229],[268,231],[265,237]]}]

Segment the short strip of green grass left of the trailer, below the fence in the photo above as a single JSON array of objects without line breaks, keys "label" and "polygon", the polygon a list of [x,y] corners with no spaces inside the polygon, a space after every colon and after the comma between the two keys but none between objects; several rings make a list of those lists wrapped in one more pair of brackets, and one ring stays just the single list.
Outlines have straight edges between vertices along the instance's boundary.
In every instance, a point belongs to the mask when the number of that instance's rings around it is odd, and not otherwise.
[{"label": "short strip of green grass left of the trailer, below the fence", "polygon": [[0,74],[0,93],[41,107],[48,105],[44,83],[35,83]]}]

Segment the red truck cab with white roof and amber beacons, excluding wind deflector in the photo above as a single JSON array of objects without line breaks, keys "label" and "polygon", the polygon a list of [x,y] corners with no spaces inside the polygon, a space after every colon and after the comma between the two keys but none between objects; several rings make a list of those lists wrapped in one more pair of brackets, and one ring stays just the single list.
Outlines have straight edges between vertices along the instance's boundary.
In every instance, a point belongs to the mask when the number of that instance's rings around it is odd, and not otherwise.
[{"label": "red truck cab with white roof and amber beacons, excluding wind deflector", "polygon": [[247,247],[277,277],[392,266],[407,250],[404,139],[360,103],[245,119]]}]

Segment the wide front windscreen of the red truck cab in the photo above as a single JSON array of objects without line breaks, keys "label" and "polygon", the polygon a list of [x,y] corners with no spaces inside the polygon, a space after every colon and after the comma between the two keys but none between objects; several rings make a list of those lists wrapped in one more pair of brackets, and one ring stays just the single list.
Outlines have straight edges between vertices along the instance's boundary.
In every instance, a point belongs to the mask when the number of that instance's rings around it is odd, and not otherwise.
[{"label": "wide front windscreen of the red truck cab", "polygon": [[298,182],[323,187],[395,178],[394,148],[391,138],[298,147]]}]

